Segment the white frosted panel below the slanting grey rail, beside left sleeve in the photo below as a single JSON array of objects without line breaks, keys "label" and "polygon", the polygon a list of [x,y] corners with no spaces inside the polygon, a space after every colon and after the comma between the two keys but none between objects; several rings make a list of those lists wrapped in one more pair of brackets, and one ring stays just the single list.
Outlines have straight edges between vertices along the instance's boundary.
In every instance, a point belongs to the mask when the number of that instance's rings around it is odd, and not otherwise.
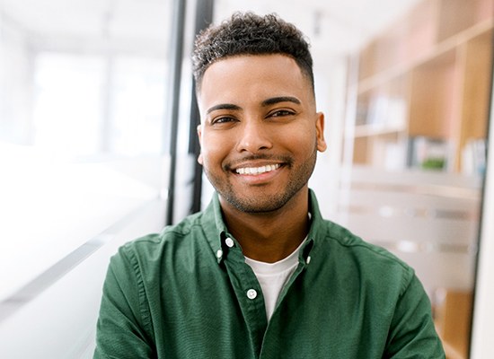
[{"label": "white frosted panel below the slanting grey rail, beside left sleeve", "polygon": [[146,210],[114,233],[83,263],[0,322],[0,357],[75,359],[92,357],[101,287],[110,256],[126,241],[159,232],[164,204]]}]

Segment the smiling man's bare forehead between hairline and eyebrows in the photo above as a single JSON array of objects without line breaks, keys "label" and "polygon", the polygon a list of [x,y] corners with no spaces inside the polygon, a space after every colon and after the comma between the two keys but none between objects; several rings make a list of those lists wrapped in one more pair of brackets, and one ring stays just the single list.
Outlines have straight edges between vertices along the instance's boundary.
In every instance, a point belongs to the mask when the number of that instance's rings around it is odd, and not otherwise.
[{"label": "smiling man's bare forehead between hairline and eyebrows", "polygon": [[296,61],[285,55],[226,57],[209,66],[198,92],[199,107],[215,101],[237,103],[270,96],[296,96],[311,101],[312,85]]}]

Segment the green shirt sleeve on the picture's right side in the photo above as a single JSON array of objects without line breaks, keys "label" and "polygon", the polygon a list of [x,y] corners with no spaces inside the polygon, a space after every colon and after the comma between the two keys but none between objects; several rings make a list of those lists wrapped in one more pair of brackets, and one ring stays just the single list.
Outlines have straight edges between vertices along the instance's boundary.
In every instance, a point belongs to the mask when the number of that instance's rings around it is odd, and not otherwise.
[{"label": "green shirt sleeve on the picture's right side", "polygon": [[427,293],[417,276],[402,293],[394,311],[386,358],[444,359],[445,352],[432,320]]}]

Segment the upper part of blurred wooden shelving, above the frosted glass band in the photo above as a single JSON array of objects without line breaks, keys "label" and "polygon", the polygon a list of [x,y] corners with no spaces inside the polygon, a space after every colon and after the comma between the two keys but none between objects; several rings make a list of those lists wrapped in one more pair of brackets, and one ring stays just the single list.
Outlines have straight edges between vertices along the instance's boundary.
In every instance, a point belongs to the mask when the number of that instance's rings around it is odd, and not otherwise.
[{"label": "upper part of blurred wooden shelving, above the frosted glass band", "polygon": [[493,16],[494,0],[423,0],[360,51],[354,163],[412,166],[420,139],[463,171],[487,136]]}]

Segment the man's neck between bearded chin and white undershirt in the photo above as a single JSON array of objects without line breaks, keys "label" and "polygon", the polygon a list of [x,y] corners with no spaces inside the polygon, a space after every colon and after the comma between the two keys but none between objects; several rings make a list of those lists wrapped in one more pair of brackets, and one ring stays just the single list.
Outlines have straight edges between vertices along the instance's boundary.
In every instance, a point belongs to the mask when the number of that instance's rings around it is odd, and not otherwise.
[{"label": "man's neck between bearded chin and white undershirt", "polygon": [[282,208],[268,213],[244,213],[221,203],[228,230],[239,241],[243,254],[251,259],[274,263],[286,258],[309,231],[308,188],[300,190]]}]

